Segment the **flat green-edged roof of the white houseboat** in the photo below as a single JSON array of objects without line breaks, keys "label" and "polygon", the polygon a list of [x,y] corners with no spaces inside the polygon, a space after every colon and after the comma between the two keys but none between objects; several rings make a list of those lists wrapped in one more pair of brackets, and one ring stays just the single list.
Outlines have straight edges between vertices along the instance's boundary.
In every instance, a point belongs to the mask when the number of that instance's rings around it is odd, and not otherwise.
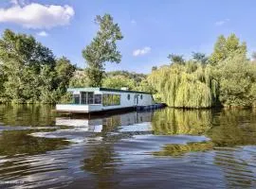
[{"label": "flat green-edged roof of the white houseboat", "polygon": [[130,91],[130,90],[120,90],[120,89],[111,89],[111,88],[103,88],[103,87],[85,87],[85,88],[68,88],[68,92],[80,91],[80,92],[120,92],[120,93],[131,93],[131,94],[151,94],[147,92],[138,92],[138,91]]}]

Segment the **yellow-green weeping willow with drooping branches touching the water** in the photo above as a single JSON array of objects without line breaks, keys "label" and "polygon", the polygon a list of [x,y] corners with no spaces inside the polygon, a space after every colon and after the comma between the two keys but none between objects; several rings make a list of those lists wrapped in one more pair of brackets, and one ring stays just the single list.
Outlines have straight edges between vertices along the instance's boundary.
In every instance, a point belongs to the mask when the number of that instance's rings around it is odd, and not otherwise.
[{"label": "yellow-green weeping willow with drooping branches touching the water", "polygon": [[218,82],[211,75],[210,65],[192,60],[160,67],[148,80],[170,107],[210,108],[218,99]]}]

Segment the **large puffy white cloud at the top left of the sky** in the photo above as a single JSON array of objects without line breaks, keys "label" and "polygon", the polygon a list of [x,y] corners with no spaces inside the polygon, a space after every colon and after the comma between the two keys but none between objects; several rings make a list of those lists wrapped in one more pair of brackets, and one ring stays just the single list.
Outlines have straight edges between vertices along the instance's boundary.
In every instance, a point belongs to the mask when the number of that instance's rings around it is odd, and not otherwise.
[{"label": "large puffy white cloud at the top left of the sky", "polygon": [[11,0],[13,6],[0,9],[0,23],[13,23],[27,28],[51,28],[66,26],[75,14],[70,6],[41,5],[31,3],[22,6],[25,1]]}]

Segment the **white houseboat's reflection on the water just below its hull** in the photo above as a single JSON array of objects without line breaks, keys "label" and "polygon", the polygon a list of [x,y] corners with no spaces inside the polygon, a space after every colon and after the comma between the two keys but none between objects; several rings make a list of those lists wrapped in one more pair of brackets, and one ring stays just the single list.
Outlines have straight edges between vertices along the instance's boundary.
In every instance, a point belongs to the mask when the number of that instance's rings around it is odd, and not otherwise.
[{"label": "white houseboat's reflection on the water just below its hull", "polygon": [[151,131],[153,112],[126,112],[103,117],[57,117],[56,126],[68,126],[89,132]]}]

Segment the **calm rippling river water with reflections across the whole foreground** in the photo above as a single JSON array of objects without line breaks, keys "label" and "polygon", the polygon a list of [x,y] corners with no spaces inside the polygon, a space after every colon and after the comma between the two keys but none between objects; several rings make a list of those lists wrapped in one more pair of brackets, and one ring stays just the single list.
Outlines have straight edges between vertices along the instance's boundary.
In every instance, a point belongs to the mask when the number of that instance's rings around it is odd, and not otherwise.
[{"label": "calm rippling river water with reflections across the whole foreground", "polygon": [[0,106],[0,188],[256,187],[256,111],[52,109]]}]

